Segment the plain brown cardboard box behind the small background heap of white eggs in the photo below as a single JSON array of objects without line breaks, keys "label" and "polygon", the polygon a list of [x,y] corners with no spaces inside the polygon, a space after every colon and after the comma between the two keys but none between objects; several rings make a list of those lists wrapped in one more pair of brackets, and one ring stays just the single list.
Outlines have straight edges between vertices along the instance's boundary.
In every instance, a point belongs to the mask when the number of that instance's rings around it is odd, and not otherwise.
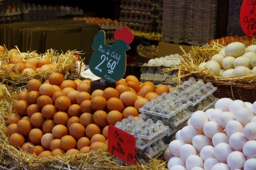
[{"label": "plain brown cardboard box behind the small background heap of white eggs", "polygon": [[190,48],[190,45],[180,45],[180,44],[171,44],[171,43],[164,43],[159,42],[158,43],[158,57],[166,56],[170,54],[183,54],[183,51],[180,49],[180,47],[183,48],[183,50],[188,51]]}]

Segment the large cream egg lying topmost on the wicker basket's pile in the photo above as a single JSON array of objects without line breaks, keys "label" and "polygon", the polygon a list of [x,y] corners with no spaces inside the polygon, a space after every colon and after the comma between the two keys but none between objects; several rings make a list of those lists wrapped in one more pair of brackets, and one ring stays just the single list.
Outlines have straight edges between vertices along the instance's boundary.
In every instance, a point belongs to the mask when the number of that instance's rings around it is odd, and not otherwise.
[{"label": "large cream egg lying topmost on the wicker basket's pile", "polygon": [[241,56],[245,52],[245,45],[240,42],[233,42],[227,45],[225,47],[225,54],[227,56],[234,56],[234,58],[237,58],[238,56]]}]

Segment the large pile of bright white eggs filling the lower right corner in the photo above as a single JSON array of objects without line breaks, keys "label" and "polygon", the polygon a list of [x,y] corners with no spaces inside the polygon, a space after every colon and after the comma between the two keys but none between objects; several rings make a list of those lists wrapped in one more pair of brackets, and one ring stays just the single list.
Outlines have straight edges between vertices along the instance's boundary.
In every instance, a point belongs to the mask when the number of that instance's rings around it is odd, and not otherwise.
[{"label": "large pile of bright white eggs filling the lower right corner", "polygon": [[164,152],[169,170],[256,169],[256,101],[223,98],[195,111]]}]

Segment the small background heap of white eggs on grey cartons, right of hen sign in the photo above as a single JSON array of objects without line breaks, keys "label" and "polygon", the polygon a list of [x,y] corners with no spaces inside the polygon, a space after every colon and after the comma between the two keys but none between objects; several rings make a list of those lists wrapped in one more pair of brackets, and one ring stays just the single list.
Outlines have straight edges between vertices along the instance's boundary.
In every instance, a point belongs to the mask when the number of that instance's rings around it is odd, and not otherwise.
[{"label": "small background heap of white eggs on grey cartons, right of hen sign", "polygon": [[166,56],[161,56],[160,58],[154,58],[147,61],[147,63],[144,63],[144,65],[147,66],[166,66],[166,67],[176,67],[181,63],[180,60],[181,55],[176,54],[170,54]]}]

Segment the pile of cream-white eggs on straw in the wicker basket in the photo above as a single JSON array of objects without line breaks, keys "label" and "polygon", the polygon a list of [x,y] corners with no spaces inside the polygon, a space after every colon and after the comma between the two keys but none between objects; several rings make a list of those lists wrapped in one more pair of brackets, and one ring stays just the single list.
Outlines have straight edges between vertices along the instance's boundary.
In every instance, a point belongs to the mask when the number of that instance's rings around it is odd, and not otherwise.
[{"label": "pile of cream-white eggs on straw in the wicker basket", "polygon": [[256,73],[256,45],[246,47],[233,42],[221,49],[211,60],[201,63],[200,69],[209,69],[216,76],[232,76]]}]

